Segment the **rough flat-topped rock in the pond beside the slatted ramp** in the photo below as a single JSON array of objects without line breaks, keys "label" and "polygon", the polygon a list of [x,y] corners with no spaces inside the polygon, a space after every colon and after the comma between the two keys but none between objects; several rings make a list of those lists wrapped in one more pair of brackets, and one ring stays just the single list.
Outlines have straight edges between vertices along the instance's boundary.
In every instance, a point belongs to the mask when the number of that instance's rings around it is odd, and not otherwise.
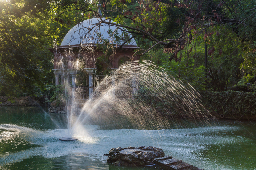
[{"label": "rough flat-topped rock in the pond beside the slatted ramp", "polygon": [[115,165],[143,166],[153,164],[143,161],[144,159],[154,159],[163,156],[164,151],[162,149],[152,146],[140,146],[138,148],[132,146],[128,148],[118,147],[112,148],[109,151],[107,161]]}]

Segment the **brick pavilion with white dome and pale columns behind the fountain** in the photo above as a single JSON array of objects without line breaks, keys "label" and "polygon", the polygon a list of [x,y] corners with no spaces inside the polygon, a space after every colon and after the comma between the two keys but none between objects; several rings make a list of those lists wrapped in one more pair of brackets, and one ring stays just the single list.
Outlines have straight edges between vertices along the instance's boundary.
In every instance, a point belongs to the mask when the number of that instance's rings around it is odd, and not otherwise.
[{"label": "brick pavilion with white dome and pale columns behind the fountain", "polygon": [[[118,66],[121,64],[120,61],[139,60],[138,55],[133,56],[134,50],[138,47],[132,35],[122,31],[126,30],[125,28],[99,23],[102,20],[112,23],[116,22],[102,17],[100,11],[101,4],[99,3],[97,6],[99,7],[97,17],[78,23],[68,31],[60,46],[48,48],[54,54],[54,68],[52,70],[54,71],[56,86],[59,85],[60,78],[60,82],[64,83],[63,74],[68,72],[72,77],[72,87],[75,89],[77,68],[74,63],[76,58],[83,57],[85,61],[83,68],[87,72],[86,79],[89,81],[89,98],[93,94],[93,73],[97,69],[96,61],[104,53],[100,49],[104,48],[104,46],[115,48],[114,55],[109,56],[108,65],[102,63],[104,70],[118,69]],[[119,40],[116,40],[116,36],[110,34],[113,32],[119,37]],[[126,37],[124,37],[125,35]],[[72,49],[72,55],[70,55],[70,52],[67,52],[70,49]],[[64,68],[64,71],[60,62],[63,56],[68,56],[68,65]]]}]

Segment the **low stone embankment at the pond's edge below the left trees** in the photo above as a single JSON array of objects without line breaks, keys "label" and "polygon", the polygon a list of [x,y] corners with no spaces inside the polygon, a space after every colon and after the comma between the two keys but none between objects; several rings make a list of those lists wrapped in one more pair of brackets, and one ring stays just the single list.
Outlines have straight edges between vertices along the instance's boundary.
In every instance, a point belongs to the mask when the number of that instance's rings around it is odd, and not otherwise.
[{"label": "low stone embankment at the pond's edge below the left trees", "polygon": [[43,104],[45,97],[7,97],[0,96],[0,106],[33,106]]}]

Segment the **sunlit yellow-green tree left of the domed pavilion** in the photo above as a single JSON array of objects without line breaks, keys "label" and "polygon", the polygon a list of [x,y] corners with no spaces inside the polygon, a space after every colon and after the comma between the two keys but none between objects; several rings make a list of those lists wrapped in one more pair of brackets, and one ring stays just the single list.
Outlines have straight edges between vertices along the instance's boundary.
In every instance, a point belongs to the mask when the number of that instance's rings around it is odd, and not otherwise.
[{"label": "sunlit yellow-green tree left of the domed pavilion", "polygon": [[0,1],[0,6],[0,91],[12,96],[42,95],[52,65],[45,37],[49,1]]}]

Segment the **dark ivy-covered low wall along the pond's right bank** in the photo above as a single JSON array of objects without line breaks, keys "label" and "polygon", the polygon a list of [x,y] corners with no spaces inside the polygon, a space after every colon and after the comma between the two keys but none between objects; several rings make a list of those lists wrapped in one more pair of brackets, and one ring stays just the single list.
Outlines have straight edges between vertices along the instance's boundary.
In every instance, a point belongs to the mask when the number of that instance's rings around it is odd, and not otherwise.
[{"label": "dark ivy-covered low wall along the pond's right bank", "polygon": [[202,92],[205,108],[215,117],[256,120],[256,93],[228,90]]}]

